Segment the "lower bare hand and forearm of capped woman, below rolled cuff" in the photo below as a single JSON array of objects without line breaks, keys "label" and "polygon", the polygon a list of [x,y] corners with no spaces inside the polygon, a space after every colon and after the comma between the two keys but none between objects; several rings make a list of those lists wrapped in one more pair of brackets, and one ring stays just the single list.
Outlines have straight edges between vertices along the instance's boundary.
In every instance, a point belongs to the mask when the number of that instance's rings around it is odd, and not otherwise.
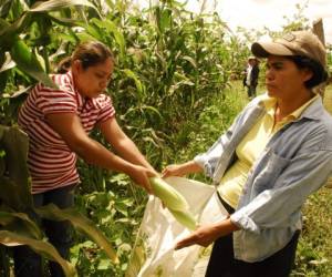
[{"label": "lower bare hand and forearm of capped woman, below rolled cuff", "polygon": [[181,249],[195,244],[207,247],[217,238],[226,236],[237,229],[239,229],[238,226],[231,223],[229,218],[218,223],[207,224],[198,227],[189,236],[177,242],[175,249]]}]

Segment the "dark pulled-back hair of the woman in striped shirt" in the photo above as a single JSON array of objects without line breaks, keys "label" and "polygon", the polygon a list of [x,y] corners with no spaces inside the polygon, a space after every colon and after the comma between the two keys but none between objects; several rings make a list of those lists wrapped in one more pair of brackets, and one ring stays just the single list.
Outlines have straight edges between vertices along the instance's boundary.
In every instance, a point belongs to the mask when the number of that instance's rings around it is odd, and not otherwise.
[{"label": "dark pulled-back hair of the woman in striped shirt", "polygon": [[74,50],[72,57],[64,58],[58,65],[58,73],[65,73],[70,70],[73,61],[81,61],[82,66],[86,70],[90,66],[104,62],[108,58],[114,62],[112,51],[102,42],[86,41],[80,43]]}]

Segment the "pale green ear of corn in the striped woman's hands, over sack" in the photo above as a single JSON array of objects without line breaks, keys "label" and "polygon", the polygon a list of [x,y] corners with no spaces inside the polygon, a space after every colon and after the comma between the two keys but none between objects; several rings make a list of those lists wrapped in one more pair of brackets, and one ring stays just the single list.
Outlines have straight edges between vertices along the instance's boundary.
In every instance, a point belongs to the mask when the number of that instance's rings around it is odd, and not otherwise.
[{"label": "pale green ear of corn in the striped woman's hands, over sack", "polygon": [[149,181],[154,194],[163,201],[167,208],[174,211],[186,211],[189,208],[186,198],[164,179],[152,177]]}]

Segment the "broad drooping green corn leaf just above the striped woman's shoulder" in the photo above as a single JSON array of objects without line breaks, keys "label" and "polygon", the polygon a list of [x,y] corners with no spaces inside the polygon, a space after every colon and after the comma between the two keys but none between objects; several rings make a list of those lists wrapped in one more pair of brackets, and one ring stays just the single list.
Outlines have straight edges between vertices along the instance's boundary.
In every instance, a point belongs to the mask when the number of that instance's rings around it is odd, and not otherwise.
[{"label": "broad drooping green corn leaf just above the striped woman's shoulder", "polygon": [[10,55],[20,70],[46,86],[56,88],[24,41],[18,38],[11,48]]}]

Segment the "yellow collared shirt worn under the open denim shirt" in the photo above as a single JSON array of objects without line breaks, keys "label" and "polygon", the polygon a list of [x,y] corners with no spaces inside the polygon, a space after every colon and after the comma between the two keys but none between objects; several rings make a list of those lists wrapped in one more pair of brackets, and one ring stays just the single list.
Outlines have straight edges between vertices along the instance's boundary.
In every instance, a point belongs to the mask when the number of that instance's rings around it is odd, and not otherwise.
[{"label": "yellow collared shirt worn under the open denim shirt", "polygon": [[267,113],[255,124],[236,148],[237,161],[228,168],[220,181],[218,192],[222,199],[236,208],[248,173],[255,161],[264,150],[271,136],[286,124],[297,120],[301,113],[317,99],[315,95],[298,110],[274,124],[277,100],[264,95],[262,103]]}]

